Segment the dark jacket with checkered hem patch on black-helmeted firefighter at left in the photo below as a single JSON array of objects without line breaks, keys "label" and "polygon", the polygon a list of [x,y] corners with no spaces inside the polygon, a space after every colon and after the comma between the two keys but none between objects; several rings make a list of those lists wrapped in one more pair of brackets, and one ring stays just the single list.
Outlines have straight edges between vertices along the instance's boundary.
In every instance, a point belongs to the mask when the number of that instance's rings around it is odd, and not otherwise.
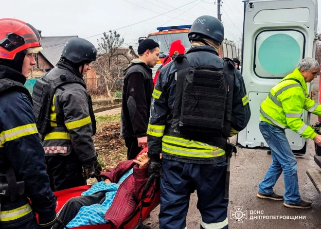
[{"label": "dark jacket with checkered hem patch on black-helmeted firefighter at left", "polygon": [[[49,71],[47,77],[54,80],[68,74],[81,78],[71,68],[60,64]],[[81,80],[83,81],[82,78]],[[44,136],[42,142],[46,156],[69,155],[74,150],[82,163],[94,159],[96,151],[89,113],[92,107],[89,107],[91,105],[86,88],[78,83],[59,86],[51,103],[51,131]]]}]

